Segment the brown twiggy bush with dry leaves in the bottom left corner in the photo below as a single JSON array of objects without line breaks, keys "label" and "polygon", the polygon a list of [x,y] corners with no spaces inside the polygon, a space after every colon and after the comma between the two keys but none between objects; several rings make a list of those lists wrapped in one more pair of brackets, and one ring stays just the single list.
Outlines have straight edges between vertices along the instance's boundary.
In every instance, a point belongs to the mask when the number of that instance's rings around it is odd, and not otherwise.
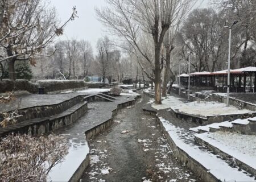
[{"label": "brown twiggy bush with dry leaves in the bottom left corner", "polygon": [[0,181],[47,181],[48,172],[67,154],[63,137],[9,135],[0,142]]}]

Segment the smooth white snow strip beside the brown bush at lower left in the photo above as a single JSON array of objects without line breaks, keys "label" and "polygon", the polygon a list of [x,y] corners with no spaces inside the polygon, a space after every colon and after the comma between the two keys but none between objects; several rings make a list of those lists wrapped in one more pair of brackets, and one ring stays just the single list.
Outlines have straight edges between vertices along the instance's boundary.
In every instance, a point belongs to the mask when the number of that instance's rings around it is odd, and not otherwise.
[{"label": "smooth white snow strip beside the brown bush at lower left", "polygon": [[48,181],[69,181],[73,174],[79,169],[86,158],[89,158],[88,143],[73,143],[68,149],[68,155],[62,163],[57,164],[48,173]]}]

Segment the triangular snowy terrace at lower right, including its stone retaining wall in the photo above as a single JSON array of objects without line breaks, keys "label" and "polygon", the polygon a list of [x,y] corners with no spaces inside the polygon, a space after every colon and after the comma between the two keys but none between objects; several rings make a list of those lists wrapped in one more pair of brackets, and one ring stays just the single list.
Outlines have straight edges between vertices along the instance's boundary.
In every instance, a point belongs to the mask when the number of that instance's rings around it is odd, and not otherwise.
[{"label": "triangular snowy terrace at lower right, including its stone retaining wall", "polygon": [[256,137],[238,133],[201,133],[195,135],[195,141],[214,151],[233,165],[256,176]]}]

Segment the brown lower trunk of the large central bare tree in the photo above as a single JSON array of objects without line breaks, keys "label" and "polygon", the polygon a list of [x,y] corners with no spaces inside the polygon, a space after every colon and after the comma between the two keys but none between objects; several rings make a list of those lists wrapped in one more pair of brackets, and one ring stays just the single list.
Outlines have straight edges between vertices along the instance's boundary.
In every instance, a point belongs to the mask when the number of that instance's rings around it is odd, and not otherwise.
[{"label": "brown lower trunk of the large central bare tree", "polygon": [[160,45],[155,46],[155,104],[162,104],[161,99],[161,69],[160,69]]}]

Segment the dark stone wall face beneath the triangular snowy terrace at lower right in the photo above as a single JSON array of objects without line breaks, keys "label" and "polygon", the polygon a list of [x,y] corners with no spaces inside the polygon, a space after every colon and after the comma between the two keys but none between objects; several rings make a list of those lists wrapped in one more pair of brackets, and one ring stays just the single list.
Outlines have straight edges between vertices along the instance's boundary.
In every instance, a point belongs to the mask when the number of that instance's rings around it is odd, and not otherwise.
[{"label": "dark stone wall face beneath the triangular snowy terrace at lower right", "polygon": [[[234,158],[234,156],[226,154],[224,151],[220,150],[217,147],[214,147],[213,145],[209,144],[208,142],[206,142],[205,140],[203,140],[199,137],[195,136],[195,141],[196,141],[196,143],[199,143],[201,146],[205,146],[205,147],[209,148],[209,150],[211,150],[211,151],[215,152],[216,154],[220,155],[225,160],[232,160]],[[236,159],[236,163],[237,163],[238,167],[240,167],[243,170],[245,170],[245,171],[253,174],[254,176],[256,176],[256,169],[248,166],[247,164],[243,163],[241,160],[238,160],[237,158],[234,158],[234,159]]]}]

